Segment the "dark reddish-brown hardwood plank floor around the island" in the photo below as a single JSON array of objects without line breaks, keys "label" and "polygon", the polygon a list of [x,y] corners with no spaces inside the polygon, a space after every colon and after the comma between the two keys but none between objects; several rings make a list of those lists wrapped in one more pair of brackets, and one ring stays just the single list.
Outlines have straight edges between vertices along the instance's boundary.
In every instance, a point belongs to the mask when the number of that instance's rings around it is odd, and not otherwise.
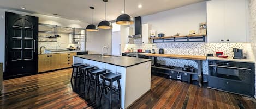
[{"label": "dark reddish-brown hardwood plank floor around the island", "polygon": [[[92,100],[80,84],[70,84],[72,69],[3,81],[0,108],[108,108]],[[205,85],[206,86],[206,85]],[[118,108],[114,95],[113,108]],[[151,91],[129,108],[256,108],[253,98],[152,75]]]}]

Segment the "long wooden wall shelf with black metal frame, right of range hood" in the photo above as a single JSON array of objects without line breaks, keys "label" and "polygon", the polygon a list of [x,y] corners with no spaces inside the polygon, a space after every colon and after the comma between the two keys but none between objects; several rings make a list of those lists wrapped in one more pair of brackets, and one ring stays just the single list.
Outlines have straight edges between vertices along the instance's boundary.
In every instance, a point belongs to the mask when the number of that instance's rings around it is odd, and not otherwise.
[{"label": "long wooden wall shelf with black metal frame, right of range hood", "polygon": [[186,35],[186,36],[166,36],[166,37],[156,37],[150,38],[153,43],[163,43],[163,42],[205,42],[205,37],[207,35]]}]

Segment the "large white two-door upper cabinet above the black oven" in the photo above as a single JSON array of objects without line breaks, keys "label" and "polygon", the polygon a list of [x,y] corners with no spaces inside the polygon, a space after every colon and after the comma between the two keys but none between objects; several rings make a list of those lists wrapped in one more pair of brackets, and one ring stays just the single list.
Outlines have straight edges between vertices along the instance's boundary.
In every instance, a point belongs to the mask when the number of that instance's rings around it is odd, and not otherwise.
[{"label": "large white two-door upper cabinet above the black oven", "polygon": [[248,1],[207,1],[209,43],[248,41]]}]

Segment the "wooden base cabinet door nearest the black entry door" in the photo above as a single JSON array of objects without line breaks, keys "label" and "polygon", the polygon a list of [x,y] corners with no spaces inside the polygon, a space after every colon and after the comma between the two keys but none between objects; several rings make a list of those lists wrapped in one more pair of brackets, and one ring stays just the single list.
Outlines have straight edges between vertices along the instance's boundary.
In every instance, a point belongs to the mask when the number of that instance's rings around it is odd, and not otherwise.
[{"label": "wooden base cabinet door nearest the black entry door", "polygon": [[38,72],[45,72],[50,69],[50,55],[38,55]]}]

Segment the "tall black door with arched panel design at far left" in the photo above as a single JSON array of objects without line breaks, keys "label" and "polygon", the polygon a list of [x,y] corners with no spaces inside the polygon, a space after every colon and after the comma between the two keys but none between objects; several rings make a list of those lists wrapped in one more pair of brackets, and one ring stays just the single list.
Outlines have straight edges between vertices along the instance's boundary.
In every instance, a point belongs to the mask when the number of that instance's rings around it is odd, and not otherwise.
[{"label": "tall black door with arched panel design at far left", "polygon": [[38,17],[5,13],[4,79],[32,75],[38,69]]}]

